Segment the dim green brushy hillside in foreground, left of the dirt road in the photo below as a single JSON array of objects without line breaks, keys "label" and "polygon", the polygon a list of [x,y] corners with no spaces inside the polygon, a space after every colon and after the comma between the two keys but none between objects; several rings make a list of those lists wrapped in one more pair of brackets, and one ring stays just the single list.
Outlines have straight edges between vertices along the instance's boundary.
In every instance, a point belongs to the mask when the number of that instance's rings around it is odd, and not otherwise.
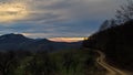
[{"label": "dim green brushy hillside in foreground, left of the dirt road", "polygon": [[0,52],[0,75],[104,75],[90,50]]}]

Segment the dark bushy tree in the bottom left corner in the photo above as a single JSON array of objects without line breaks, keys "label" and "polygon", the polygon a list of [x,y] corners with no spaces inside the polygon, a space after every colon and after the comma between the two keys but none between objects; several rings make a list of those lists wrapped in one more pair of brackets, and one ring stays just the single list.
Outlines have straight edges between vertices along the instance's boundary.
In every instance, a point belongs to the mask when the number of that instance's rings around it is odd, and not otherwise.
[{"label": "dark bushy tree in the bottom left corner", "polygon": [[14,52],[0,52],[0,75],[11,75],[17,64],[18,58]]}]

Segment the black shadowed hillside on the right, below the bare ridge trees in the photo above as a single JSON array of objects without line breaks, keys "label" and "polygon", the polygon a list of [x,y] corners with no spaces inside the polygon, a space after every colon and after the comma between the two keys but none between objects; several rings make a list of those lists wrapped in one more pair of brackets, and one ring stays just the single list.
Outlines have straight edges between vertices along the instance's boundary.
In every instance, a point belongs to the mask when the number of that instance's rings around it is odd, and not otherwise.
[{"label": "black shadowed hillside on the right, below the bare ridge trees", "polygon": [[111,64],[133,71],[133,20],[96,32],[83,46],[101,50]]}]

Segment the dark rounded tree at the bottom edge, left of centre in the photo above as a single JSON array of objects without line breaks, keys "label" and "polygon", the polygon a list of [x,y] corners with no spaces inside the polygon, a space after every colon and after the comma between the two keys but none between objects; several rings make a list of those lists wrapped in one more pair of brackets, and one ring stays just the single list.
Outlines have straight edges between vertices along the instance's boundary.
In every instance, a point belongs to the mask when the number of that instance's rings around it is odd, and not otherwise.
[{"label": "dark rounded tree at the bottom edge, left of centre", "polygon": [[28,62],[25,66],[25,74],[31,75],[54,75],[57,66],[54,62],[51,61],[48,52],[41,51],[35,53],[33,58]]}]

